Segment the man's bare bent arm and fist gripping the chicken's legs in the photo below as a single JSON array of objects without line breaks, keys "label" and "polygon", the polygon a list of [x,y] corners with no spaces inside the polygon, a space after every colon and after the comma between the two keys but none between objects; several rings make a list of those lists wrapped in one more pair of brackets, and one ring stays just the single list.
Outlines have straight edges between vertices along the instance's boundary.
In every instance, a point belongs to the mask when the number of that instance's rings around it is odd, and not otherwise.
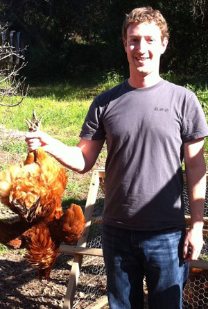
[{"label": "man's bare bent arm and fist gripping the chicken's legs", "polygon": [[65,167],[80,174],[88,172],[94,166],[105,140],[84,140],[75,147],[69,147],[50,135],[36,131],[26,134],[28,150],[42,147]]}]

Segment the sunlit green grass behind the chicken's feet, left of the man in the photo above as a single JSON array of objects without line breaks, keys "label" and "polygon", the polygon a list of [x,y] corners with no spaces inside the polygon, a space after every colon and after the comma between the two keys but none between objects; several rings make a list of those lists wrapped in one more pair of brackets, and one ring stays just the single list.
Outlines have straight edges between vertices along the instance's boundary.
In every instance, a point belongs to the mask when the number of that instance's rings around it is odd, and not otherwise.
[{"label": "sunlit green grass behind the chicken's feet, left of the man", "polygon": [[93,98],[121,80],[116,74],[107,74],[104,82],[94,87],[67,83],[31,87],[28,97],[19,106],[0,106],[0,124],[6,128],[27,131],[25,119],[31,119],[35,109],[37,117],[44,115],[42,130],[66,144],[74,145],[78,142],[81,126]]}]

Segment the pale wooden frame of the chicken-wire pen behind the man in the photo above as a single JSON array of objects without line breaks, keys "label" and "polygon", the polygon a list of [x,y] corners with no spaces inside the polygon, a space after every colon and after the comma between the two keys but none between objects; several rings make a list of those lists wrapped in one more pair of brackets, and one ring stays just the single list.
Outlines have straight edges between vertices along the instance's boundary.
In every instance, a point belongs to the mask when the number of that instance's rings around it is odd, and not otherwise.
[{"label": "pale wooden frame of the chicken-wire pen behind the man", "polygon": [[[97,193],[98,193],[98,187],[101,185],[103,187],[103,183],[105,179],[105,170],[104,169],[95,169],[92,174],[91,183],[89,185],[89,192],[87,195],[87,201],[85,205],[85,219],[86,219],[86,226],[85,231],[83,233],[83,236],[78,241],[78,244],[76,246],[69,246],[69,245],[61,245],[60,246],[60,252],[62,253],[69,253],[74,256],[73,258],[73,264],[71,267],[71,274],[69,276],[69,282],[67,285],[67,293],[64,298],[64,306],[63,309],[71,309],[73,307],[73,299],[74,294],[76,292],[76,287],[78,285],[78,277],[80,274],[80,267],[82,265],[83,256],[103,256],[103,250],[102,249],[96,249],[96,248],[86,248],[87,245],[87,237],[89,235],[89,228],[92,223],[92,214],[94,211],[94,206],[96,203]],[[186,182],[186,175],[184,174],[184,182]],[[208,175],[207,175],[207,183],[208,183]],[[104,191],[104,189],[103,189]],[[190,223],[190,216],[185,216],[187,221],[187,226],[189,226]],[[204,217],[205,220],[205,229],[203,229],[204,236],[208,235],[208,217]],[[208,261],[204,260],[196,260],[190,262],[190,267],[194,268],[202,268],[208,270]],[[105,300],[107,303],[107,299]],[[103,303],[101,306],[96,306],[96,308],[102,308]]]}]

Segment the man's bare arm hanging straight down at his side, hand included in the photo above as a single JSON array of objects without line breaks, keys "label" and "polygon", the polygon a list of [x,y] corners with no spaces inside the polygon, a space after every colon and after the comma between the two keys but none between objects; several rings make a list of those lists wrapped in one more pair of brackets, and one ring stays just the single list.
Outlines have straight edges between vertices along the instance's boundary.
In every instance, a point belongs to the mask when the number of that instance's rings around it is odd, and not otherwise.
[{"label": "man's bare arm hanging straight down at his side, hand included", "polygon": [[191,212],[191,227],[184,241],[184,262],[197,260],[203,245],[202,228],[206,192],[206,165],[203,148],[203,138],[184,144],[184,162]]}]

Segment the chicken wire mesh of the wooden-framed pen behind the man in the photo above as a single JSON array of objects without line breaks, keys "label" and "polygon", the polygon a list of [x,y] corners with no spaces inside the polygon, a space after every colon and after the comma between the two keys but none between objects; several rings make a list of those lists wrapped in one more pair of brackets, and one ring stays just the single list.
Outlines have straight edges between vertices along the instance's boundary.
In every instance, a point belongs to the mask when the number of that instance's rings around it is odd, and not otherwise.
[{"label": "chicken wire mesh of the wooden-framed pen behind the man", "polygon": [[[94,207],[92,224],[87,240],[88,248],[102,248],[101,244],[101,217],[103,212],[104,201],[104,179],[100,178],[100,188],[98,189],[96,204]],[[185,215],[190,215],[189,201],[187,196],[187,185],[184,183],[184,212]],[[204,216],[208,217],[208,184],[205,201]],[[206,226],[207,228],[207,226]],[[201,253],[202,259],[208,259],[208,237],[205,237],[205,244]],[[208,263],[208,260],[207,260]],[[98,301],[103,295],[107,294],[106,276],[103,257],[84,256],[82,267],[80,269],[80,277],[76,294],[73,301],[73,309],[93,308],[92,304]],[[146,283],[144,278],[144,295],[146,297]],[[145,302],[144,305],[148,309]],[[98,307],[96,307],[98,308]],[[108,307],[102,307],[108,308]],[[190,272],[187,285],[184,288],[183,294],[183,309],[208,309],[208,270],[195,269],[195,272]]]}]

